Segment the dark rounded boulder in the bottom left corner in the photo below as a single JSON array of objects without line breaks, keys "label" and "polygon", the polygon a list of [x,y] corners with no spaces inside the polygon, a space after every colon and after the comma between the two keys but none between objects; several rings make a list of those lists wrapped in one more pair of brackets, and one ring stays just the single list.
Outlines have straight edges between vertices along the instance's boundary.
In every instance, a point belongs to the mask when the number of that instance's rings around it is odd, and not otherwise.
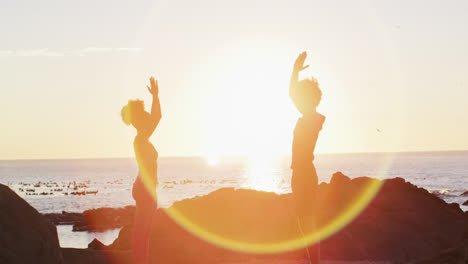
[{"label": "dark rounded boulder in the bottom left corner", "polygon": [[55,225],[0,184],[0,263],[63,263]]}]

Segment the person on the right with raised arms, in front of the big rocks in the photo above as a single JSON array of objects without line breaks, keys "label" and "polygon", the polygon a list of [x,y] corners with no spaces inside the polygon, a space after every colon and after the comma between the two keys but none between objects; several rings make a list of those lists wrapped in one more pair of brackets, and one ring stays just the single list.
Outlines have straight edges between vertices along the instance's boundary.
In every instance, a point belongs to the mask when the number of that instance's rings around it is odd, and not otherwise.
[{"label": "person on the right with raised arms, in front of the big rocks", "polygon": [[[322,91],[317,80],[311,78],[299,81],[299,72],[309,67],[308,65],[304,66],[306,57],[306,52],[297,57],[289,85],[289,96],[302,114],[294,128],[291,162],[293,171],[291,189],[296,201],[297,220],[301,232],[304,219],[307,216],[317,214],[318,177],[313,161],[315,144],[325,121],[325,116],[316,111],[322,98]],[[310,254],[307,251],[309,260],[314,264],[319,263],[319,243],[312,248]]]}]

